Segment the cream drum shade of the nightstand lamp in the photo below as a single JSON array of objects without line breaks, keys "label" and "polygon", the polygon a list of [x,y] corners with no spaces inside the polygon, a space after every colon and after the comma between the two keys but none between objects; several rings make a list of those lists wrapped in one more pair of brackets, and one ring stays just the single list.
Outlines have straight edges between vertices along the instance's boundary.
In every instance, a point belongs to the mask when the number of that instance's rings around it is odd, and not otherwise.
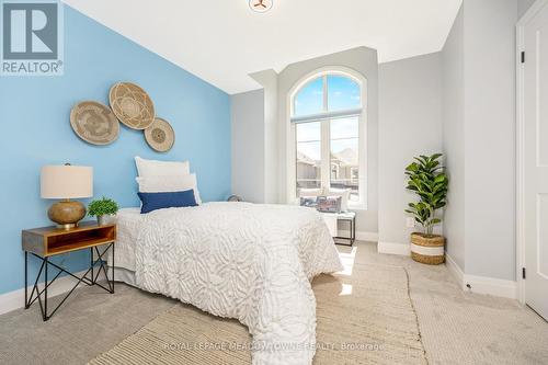
[{"label": "cream drum shade of the nightstand lamp", "polygon": [[45,166],[39,180],[43,198],[93,196],[93,168],[87,166]]}]

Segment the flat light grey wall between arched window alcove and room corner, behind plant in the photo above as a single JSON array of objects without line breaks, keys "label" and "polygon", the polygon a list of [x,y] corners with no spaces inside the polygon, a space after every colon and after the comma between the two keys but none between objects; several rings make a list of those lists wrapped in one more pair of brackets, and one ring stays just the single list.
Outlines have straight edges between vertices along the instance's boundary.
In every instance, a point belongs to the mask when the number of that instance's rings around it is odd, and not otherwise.
[{"label": "flat light grey wall between arched window alcove and room corner, behind plant", "polygon": [[379,65],[379,244],[409,246],[406,167],[414,156],[442,151],[441,55]]}]

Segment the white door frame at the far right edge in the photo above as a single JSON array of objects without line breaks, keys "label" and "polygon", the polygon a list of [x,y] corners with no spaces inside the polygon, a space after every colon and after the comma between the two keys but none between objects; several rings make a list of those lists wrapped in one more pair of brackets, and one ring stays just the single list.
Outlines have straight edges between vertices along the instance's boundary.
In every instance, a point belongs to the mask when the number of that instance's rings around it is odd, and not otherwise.
[{"label": "white door frame at the far right edge", "polygon": [[[522,50],[525,48],[525,26],[535,15],[548,4],[548,0],[537,0],[516,23],[516,299],[525,305],[525,280],[522,277],[522,267],[525,267],[525,209],[524,209],[524,64]],[[525,59],[527,61],[527,58]]]}]

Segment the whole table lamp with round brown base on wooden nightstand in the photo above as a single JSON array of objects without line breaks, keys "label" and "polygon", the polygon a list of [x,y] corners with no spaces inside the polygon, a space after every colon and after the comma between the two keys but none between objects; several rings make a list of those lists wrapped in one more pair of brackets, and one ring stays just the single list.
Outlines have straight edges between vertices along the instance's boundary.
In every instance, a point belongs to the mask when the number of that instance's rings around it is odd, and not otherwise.
[{"label": "whole table lamp with round brown base on wooden nightstand", "polygon": [[41,195],[46,199],[62,199],[47,210],[47,216],[58,228],[77,227],[85,217],[85,206],[70,199],[93,196],[93,168],[70,163],[43,167]]}]

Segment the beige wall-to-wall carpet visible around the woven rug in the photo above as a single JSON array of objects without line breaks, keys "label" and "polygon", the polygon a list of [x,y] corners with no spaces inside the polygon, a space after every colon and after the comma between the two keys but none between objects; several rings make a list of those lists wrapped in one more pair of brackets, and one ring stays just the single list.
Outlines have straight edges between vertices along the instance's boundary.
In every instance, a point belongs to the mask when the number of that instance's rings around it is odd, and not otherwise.
[{"label": "beige wall-to-wall carpet visible around the woven rug", "polygon": [[[349,274],[352,265],[407,269],[431,365],[548,364],[548,323],[529,308],[511,299],[465,293],[445,265],[427,266],[408,256],[379,254],[373,242],[338,249]],[[52,298],[52,304],[60,299]],[[85,364],[175,304],[117,284],[114,295],[98,287],[77,289],[47,322],[42,321],[37,304],[1,315],[0,364]],[[383,354],[391,356],[388,351]],[[363,354],[369,356],[370,352]]]}]

